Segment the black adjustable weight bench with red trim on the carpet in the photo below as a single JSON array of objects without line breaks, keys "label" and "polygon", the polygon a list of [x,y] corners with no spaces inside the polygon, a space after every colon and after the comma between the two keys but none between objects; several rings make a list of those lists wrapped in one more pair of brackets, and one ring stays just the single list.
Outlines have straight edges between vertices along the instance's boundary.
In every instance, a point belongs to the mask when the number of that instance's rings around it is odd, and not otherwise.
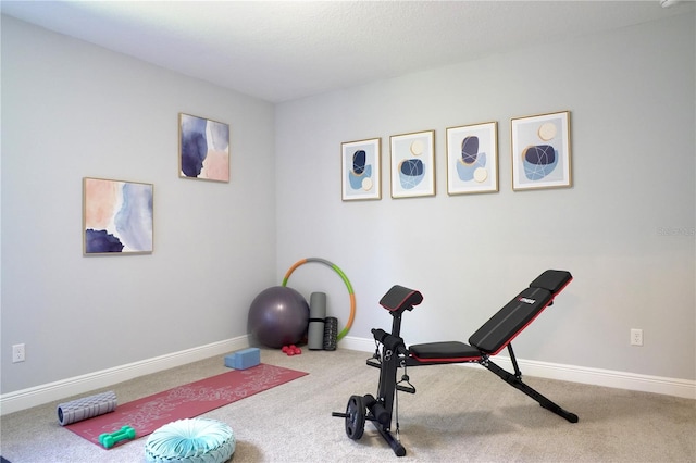
[{"label": "black adjustable weight bench with red trim on the carpet", "polygon": [[[428,342],[407,347],[400,337],[401,316],[423,301],[421,292],[395,285],[380,300],[380,304],[393,316],[391,333],[373,329],[377,349],[368,365],[380,368],[380,385],[376,398],[372,395],[351,396],[345,413],[334,412],[333,416],[345,418],[346,434],[358,440],[362,437],[365,421],[371,421],[382,437],[389,443],[398,456],[406,449],[398,438],[391,435],[394,400],[397,391],[415,393],[409,383],[406,371],[409,366],[442,365],[449,363],[478,363],[498,375],[512,387],[521,390],[543,408],[556,413],[571,423],[577,423],[577,415],[561,409],[546,397],[522,381],[512,340],[532,323],[554,298],[573,279],[569,272],[548,270],[500,309],[490,320],[469,338],[469,343],[460,341]],[[510,373],[495,364],[490,356],[502,349],[508,350],[514,372]],[[397,381],[397,370],[405,370],[401,380]],[[398,417],[396,421],[398,436]]]}]

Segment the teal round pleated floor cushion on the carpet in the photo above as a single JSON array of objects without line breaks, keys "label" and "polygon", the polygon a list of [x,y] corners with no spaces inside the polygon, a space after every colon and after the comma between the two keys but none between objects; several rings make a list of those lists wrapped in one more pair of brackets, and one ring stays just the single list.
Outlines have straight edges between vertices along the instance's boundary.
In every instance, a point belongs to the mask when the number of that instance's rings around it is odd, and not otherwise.
[{"label": "teal round pleated floor cushion on the carpet", "polygon": [[157,463],[222,463],[232,458],[235,446],[235,435],[223,422],[177,420],[148,437],[145,456]]}]

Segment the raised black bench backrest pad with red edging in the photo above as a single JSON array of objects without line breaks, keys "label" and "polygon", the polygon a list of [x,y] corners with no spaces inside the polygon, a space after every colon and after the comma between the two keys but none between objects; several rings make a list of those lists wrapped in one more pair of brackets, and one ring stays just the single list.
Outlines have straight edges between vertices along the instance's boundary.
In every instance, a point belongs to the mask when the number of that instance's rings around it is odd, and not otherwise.
[{"label": "raised black bench backrest pad with red edging", "polygon": [[573,277],[564,271],[546,271],[508,302],[469,338],[469,343],[495,355],[554,301]]}]

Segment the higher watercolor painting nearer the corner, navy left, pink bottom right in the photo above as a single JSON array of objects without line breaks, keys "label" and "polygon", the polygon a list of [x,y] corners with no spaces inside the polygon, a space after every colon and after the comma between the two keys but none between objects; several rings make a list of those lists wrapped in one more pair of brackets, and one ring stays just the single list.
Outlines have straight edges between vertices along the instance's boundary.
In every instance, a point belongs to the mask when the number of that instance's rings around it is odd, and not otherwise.
[{"label": "higher watercolor painting nearer the corner, navy left, pink bottom right", "polygon": [[229,126],[181,113],[179,177],[229,182]]}]

